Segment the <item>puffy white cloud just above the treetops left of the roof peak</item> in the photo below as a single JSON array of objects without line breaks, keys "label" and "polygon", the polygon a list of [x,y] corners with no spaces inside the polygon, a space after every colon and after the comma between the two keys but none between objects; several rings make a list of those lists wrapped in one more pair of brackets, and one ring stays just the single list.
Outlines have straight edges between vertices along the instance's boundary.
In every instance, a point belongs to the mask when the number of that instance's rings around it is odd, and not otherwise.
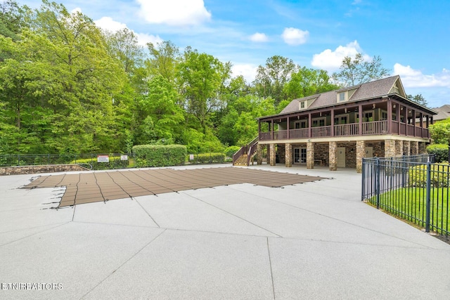
[{"label": "puffy white cloud just above the treetops left of the roof peak", "polygon": [[[355,40],[345,46],[338,46],[335,51],[326,49],[319,54],[314,54],[311,65],[322,70],[327,70],[328,72],[334,72],[339,69],[345,56],[354,58],[356,53],[362,53],[362,50],[358,41]],[[366,54],[363,57],[365,60],[371,60],[371,57]]]}]

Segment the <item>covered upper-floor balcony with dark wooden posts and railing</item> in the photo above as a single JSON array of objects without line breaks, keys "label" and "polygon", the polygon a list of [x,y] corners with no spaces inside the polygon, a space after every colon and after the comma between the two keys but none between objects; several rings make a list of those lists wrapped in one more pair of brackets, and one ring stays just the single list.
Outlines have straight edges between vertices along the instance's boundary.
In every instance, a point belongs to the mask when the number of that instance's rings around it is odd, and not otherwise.
[{"label": "covered upper-floor balcony with dark wooden posts and railing", "polygon": [[[361,112],[361,113],[360,113]],[[430,138],[432,115],[391,98],[259,119],[259,141],[400,135]]]}]

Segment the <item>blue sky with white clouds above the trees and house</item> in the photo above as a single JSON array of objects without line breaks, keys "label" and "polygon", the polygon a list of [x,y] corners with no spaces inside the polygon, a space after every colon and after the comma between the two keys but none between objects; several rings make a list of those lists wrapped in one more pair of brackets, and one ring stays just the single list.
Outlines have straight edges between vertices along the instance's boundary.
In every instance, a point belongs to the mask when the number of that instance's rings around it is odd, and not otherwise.
[{"label": "blue sky with white clouds above the trees and house", "polygon": [[[99,27],[133,30],[141,44],[172,41],[233,64],[250,83],[271,56],[339,70],[380,56],[407,94],[450,104],[449,0],[54,0]],[[32,8],[39,1],[17,0]]]}]

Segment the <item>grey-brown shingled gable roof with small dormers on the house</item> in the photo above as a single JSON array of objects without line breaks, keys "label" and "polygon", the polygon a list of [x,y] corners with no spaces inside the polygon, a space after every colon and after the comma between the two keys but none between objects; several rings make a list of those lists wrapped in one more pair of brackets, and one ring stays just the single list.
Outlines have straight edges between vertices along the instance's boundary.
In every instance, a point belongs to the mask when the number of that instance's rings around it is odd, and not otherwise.
[{"label": "grey-brown shingled gable roof with small dormers on the house", "polygon": [[298,103],[302,100],[307,100],[309,98],[316,98],[316,100],[314,100],[314,102],[311,103],[311,105],[309,105],[308,107],[308,109],[313,109],[338,104],[337,103],[338,93],[341,93],[343,91],[351,91],[356,89],[356,91],[347,101],[347,102],[354,102],[358,100],[387,96],[390,93],[394,93],[394,91],[392,90],[393,89],[395,90],[395,88],[397,88],[397,93],[399,93],[400,96],[405,97],[406,94],[403,89],[403,84],[401,84],[400,77],[396,75],[392,77],[378,79],[375,81],[370,81],[364,84],[359,84],[357,86],[349,86],[345,89],[327,91],[325,93],[319,93],[305,98],[294,99],[288,104],[288,106],[286,106],[280,112],[280,114],[295,112],[299,110]]}]

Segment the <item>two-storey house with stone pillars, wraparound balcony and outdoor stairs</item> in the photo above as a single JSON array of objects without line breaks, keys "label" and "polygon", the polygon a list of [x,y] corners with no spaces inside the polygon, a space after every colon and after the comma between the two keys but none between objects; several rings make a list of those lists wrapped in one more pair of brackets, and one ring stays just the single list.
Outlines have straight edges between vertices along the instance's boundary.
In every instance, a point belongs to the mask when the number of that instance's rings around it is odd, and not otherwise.
[{"label": "two-storey house with stone pillars, wraparound balcony and outdoor stairs", "polygon": [[[314,164],[361,172],[363,157],[425,153],[436,112],[406,97],[399,76],[292,100],[278,115],[258,118],[259,136],[241,152],[247,162],[266,148],[268,162]],[[416,119],[420,120],[416,124]],[[236,159],[235,159],[236,158]]]}]

